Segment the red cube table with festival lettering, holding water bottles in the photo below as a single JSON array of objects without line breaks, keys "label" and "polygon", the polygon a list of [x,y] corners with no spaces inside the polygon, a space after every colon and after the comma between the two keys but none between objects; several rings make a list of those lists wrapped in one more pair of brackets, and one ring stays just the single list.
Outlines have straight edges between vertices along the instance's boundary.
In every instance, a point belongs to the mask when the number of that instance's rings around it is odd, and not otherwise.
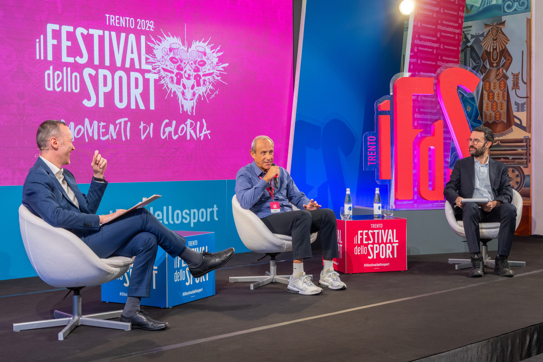
[{"label": "red cube table with festival lettering, holding water bottles", "polygon": [[353,215],[336,221],[340,257],[334,258],[334,269],[345,274],[407,270],[406,219]]}]

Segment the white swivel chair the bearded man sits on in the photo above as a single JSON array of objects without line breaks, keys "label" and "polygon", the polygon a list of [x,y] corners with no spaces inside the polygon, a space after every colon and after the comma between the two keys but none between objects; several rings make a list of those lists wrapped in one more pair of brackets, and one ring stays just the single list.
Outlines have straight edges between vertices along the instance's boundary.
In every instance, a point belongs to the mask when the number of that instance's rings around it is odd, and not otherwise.
[{"label": "white swivel chair the bearded man sits on", "polygon": [[[522,217],[522,196],[513,190],[513,205],[516,207],[516,226],[519,227],[520,218]],[[456,221],[454,218],[454,211],[449,204],[449,201],[445,201],[445,215],[447,216],[447,221],[452,230],[460,237],[465,238],[466,234],[464,232],[464,222]],[[487,243],[498,237],[498,231],[500,231],[500,223],[481,223],[479,224],[479,235],[481,237],[481,254],[483,256],[484,266],[489,268],[494,268],[494,261],[488,256],[488,246]],[[465,241],[465,240],[464,240]],[[454,269],[464,269],[471,267],[471,259],[449,259],[449,264],[456,264]],[[526,266],[526,262],[509,262],[509,265],[512,266]]]}]

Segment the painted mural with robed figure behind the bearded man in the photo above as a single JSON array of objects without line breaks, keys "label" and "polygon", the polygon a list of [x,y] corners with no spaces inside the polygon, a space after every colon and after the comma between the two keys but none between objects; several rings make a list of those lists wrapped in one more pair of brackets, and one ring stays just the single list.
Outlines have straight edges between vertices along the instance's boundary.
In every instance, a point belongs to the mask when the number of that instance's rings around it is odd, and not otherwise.
[{"label": "painted mural with robed figure behind the bearded man", "polygon": [[531,1],[467,0],[460,63],[478,72],[472,123],[494,131],[490,155],[507,163],[511,185],[531,204]]}]

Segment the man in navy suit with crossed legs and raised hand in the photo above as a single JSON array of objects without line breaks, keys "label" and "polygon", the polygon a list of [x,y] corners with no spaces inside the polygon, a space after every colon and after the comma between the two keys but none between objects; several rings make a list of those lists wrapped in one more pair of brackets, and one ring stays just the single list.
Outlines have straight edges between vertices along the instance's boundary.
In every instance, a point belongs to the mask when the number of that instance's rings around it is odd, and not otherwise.
[{"label": "man in navy suit with crossed legs and raised hand", "polygon": [[75,150],[66,123],[46,120],[37,130],[36,143],[40,157],[24,180],[23,205],[49,225],[74,233],[99,258],[136,257],[132,265],[127,303],[121,315],[121,321],[132,323],[133,328],[157,331],[168,326],[167,322],[151,319],[140,308],[141,298],[150,295],[158,245],[172,257],[183,259],[194,277],[220,268],[233,256],[233,247],[217,253],[195,252],[185,246],[184,237],[162,225],[144,208],[103,224],[125,211],[96,215],[108,186],[104,177],[108,166],[105,158],[94,151],[91,162],[94,176],[89,193],[85,195],[77,187],[72,173],[62,168],[70,164],[70,154]]}]

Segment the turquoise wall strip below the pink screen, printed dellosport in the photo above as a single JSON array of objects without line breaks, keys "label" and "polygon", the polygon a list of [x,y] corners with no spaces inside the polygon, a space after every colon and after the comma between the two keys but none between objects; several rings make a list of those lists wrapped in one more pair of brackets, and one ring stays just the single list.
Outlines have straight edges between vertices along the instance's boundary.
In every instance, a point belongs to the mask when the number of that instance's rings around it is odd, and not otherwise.
[{"label": "turquoise wall strip below the pink screen, printed dellosport", "polygon": [[[81,192],[86,193],[90,184],[78,186]],[[216,250],[233,246],[236,252],[246,252],[250,250],[239,239],[232,216],[234,186],[235,180],[110,183],[98,214],[129,208],[143,197],[159,194],[162,197],[151,202],[149,210],[153,207],[153,214],[162,222],[166,218],[168,228],[212,231],[215,233]],[[24,251],[19,230],[18,208],[23,187],[1,186],[0,190],[3,193],[0,217],[4,220],[0,241],[0,280],[36,276]]]}]

